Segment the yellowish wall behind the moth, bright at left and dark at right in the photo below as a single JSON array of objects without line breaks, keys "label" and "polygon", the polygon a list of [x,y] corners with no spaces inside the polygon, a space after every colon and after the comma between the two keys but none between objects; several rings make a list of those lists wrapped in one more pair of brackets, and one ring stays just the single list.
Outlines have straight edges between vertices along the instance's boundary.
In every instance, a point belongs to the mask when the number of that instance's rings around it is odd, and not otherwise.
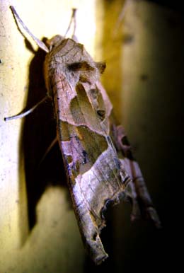
[{"label": "yellowish wall behind the moth, bright at left and dark at right", "polygon": [[[183,127],[184,25],[177,11],[151,1],[128,2],[120,24],[120,0],[0,2],[1,273],[143,273],[164,271],[175,262],[178,209],[173,200]],[[10,4],[40,39],[64,34],[71,8],[78,8],[76,35],[96,61],[107,62],[103,85],[163,223],[156,231],[146,221],[130,223],[129,204],[110,208],[102,232],[110,257],[100,267],[84,252],[58,147],[40,164],[54,138],[52,105],[45,103],[23,120],[3,120],[45,94],[44,54],[30,38],[32,50],[25,43]]]}]

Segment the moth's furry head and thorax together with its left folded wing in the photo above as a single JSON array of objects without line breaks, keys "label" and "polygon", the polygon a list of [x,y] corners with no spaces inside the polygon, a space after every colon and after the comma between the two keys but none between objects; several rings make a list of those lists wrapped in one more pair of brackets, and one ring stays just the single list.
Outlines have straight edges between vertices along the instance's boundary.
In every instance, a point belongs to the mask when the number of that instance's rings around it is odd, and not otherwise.
[{"label": "moth's furry head and thorax together with its left folded wing", "polygon": [[53,48],[45,59],[45,74],[57,138],[81,234],[98,264],[108,257],[99,237],[105,225],[102,211],[124,192],[128,175],[110,140],[112,105],[100,89],[99,65],[74,40],[61,40]]}]

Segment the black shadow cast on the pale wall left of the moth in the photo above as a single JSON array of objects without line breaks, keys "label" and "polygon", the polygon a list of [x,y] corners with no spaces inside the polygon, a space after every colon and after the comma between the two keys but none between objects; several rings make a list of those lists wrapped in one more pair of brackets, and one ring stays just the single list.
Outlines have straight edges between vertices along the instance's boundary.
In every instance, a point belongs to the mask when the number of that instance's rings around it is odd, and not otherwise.
[{"label": "black shadow cast on the pale wall left of the moth", "polygon": [[[27,47],[30,45],[27,43]],[[33,50],[32,50],[33,51]],[[30,62],[26,109],[45,97],[47,90],[43,76],[45,52],[38,50]],[[67,186],[59,145],[45,152],[56,137],[56,124],[52,102],[46,100],[33,113],[25,117],[21,138],[21,153],[25,163],[25,183],[28,204],[28,226],[31,230],[37,221],[36,206],[48,185]],[[21,162],[20,162],[21,164]],[[22,220],[21,220],[22,221]]]}]

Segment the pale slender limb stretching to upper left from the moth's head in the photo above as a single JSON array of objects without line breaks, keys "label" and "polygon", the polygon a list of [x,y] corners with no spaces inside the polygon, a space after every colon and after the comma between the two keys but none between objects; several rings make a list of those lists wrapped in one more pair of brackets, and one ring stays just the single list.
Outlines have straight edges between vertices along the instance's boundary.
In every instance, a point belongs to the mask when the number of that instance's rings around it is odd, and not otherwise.
[{"label": "pale slender limb stretching to upper left from the moth's head", "polygon": [[33,35],[33,33],[30,32],[30,30],[26,27],[26,25],[23,23],[23,21],[21,20],[21,18],[18,16],[18,13],[16,12],[16,9],[14,8],[14,6],[10,6],[10,9],[11,9],[11,12],[13,13],[14,18],[16,19],[16,25],[18,27],[18,30],[21,31],[21,29],[18,26],[18,22],[19,22],[22,25],[22,27],[25,29],[25,31],[28,33],[28,35],[30,35],[30,37],[33,38],[33,40],[38,45],[38,47],[40,47],[42,50],[44,50],[45,52],[48,53],[49,49],[46,47],[45,43],[42,42],[42,41],[40,41],[37,37],[35,37]]}]

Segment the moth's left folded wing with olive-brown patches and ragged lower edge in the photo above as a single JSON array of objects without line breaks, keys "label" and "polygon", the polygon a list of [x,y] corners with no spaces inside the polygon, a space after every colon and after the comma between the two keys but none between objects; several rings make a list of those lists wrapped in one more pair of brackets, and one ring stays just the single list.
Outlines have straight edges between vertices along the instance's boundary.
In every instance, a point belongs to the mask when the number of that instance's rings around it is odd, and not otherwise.
[{"label": "moth's left folded wing with olive-brown patches and ragged lower edge", "polygon": [[[70,98],[66,94],[71,94]],[[103,211],[109,201],[117,202],[124,194],[129,177],[121,168],[110,136],[99,120],[96,122],[98,117],[85,89],[78,86],[71,90],[64,82],[55,103],[57,109],[65,109],[57,113],[57,134],[79,228],[91,257],[100,264],[108,257],[99,237],[105,226]]]}]

